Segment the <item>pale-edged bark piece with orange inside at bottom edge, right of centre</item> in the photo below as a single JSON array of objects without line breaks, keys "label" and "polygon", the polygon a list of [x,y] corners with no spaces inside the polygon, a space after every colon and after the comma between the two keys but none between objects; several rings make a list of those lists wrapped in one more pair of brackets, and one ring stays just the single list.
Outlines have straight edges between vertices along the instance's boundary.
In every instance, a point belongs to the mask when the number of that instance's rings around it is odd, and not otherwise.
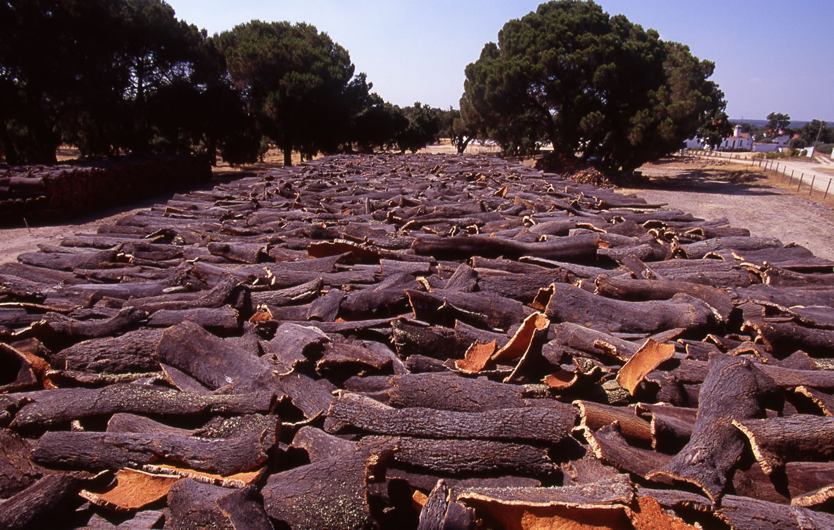
[{"label": "pale-edged bark piece with orange inside at bottom edge, right of centre", "polygon": [[[452,488],[451,498],[475,507],[501,527],[628,527],[634,489],[625,475],[553,488]],[[585,526],[586,525],[586,526]]]}]

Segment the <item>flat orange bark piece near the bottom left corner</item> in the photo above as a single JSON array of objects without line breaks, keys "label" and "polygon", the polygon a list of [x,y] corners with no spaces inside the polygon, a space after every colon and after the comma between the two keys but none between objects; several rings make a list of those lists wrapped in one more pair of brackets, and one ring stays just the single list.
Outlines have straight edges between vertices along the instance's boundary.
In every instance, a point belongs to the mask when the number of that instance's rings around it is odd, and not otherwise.
[{"label": "flat orange bark piece near the bottom left corner", "polygon": [[119,469],[116,483],[102,493],[82,490],[81,497],[114,512],[131,512],[166,497],[168,490],[182,480],[176,475],[157,475],[135,469]]}]

